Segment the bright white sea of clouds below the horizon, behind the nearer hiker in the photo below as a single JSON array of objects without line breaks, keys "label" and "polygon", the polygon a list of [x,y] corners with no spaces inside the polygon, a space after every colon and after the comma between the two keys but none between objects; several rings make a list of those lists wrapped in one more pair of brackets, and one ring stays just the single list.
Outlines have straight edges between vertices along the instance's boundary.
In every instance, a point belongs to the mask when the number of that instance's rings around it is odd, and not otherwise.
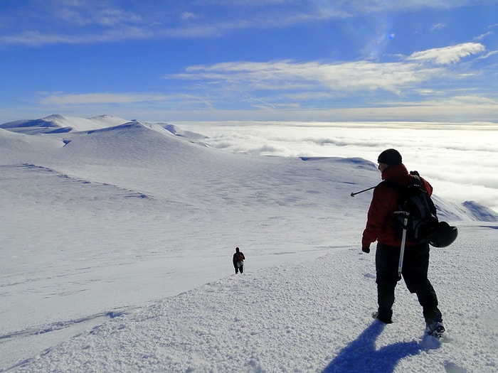
[{"label": "bright white sea of clouds below the horizon, behind the nearer hiker", "polygon": [[263,156],[360,157],[375,162],[396,148],[409,170],[430,180],[435,193],[475,201],[498,212],[497,124],[176,122],[208,136],[216,148]]}]

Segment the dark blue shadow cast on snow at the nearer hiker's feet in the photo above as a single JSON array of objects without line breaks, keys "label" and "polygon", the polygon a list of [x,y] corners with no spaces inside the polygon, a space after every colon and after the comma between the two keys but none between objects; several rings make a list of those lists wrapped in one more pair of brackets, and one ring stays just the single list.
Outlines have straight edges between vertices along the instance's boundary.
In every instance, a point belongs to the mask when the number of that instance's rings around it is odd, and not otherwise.
[{"label": "dark blue shadow cast on snow at the nearer hiker's feet", "polygon": [[322,373],[393,372],[403,357],[418,355],[420,345],[415,342],[398,342],[376,350],[375,341],[386,325],[374,321],[356,340],[344,347]]}]

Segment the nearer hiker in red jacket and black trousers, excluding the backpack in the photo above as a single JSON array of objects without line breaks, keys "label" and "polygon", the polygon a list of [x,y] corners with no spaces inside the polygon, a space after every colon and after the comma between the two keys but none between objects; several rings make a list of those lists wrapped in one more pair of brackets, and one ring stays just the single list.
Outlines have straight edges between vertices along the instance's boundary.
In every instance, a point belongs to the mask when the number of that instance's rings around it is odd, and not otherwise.
[{"label": "nearer hiker in red jacket and black trousers, excluding the backpack", "polygon": [[[408,185],[413,178],[402,163],[401,154],[396,149],[387,149],[378,156],[378,169],[383,180],[391,180],[398,185]],[[433,187],[421,178],[423,188],[431,195]],[[394,289],[398,278],[398,262],[401,252],[401,239],[396,237],[394,211],[398,205],[398,192],[388,185],[379,184],[373,190],[366,228],[361,239],[361,250],[370,252],[372,242],[377,242],[376,283],[378,310],[373,317],[383,323],[392,323]],[[443,317],[438,308],[438,297],[428,279],[429,244],[406,242],[402,275],[410,293],[415,293],[423,308],[423,316],[428,331],[443,333]]]}]

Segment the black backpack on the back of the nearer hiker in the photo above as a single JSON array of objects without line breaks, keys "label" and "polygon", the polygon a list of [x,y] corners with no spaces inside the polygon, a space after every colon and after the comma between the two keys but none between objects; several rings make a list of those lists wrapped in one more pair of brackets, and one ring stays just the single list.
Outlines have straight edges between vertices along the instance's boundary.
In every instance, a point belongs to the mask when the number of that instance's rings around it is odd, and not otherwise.
[{"label": "black backpack on the back of the nearer hiker", "polygon": [[398,207],[394,212],[396,238],[401,239],[403,229],[406,229],[406,241],[422,244],[429,242],[430,235],[438,226],[438,215],[418,172],[410,171],[410,175],[413,175],[413,182],[408,185],[399,185],[391,180],[382,183],[396,190],[399,195]]}]

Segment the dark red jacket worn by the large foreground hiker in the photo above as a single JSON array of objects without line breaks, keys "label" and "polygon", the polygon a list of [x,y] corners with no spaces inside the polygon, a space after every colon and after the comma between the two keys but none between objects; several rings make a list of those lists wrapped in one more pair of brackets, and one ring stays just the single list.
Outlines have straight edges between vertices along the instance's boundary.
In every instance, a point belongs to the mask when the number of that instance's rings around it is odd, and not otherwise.
[{"label": "dark red jacket worn by the large foreground hiker", "polygon": [[[412,178],[413,176],[408,173],[403,164],[386,168],[382,173],[382,180],[392,180],[400,185],[409,184]],[[433,187],[427,180],[421,179],[427,193],[429,195],[433,194]],[[373,190],[366,228],[361,239],[361,247],[370,247],[370,244],[376,241],[389,246],[401,246],[401,239],[397,239],[394,234],[394,211],[397,206],[398,193],[396,190],[382,183]],[[406,246],[413,246],[414,244],[413,242],[406,242]]]}]

